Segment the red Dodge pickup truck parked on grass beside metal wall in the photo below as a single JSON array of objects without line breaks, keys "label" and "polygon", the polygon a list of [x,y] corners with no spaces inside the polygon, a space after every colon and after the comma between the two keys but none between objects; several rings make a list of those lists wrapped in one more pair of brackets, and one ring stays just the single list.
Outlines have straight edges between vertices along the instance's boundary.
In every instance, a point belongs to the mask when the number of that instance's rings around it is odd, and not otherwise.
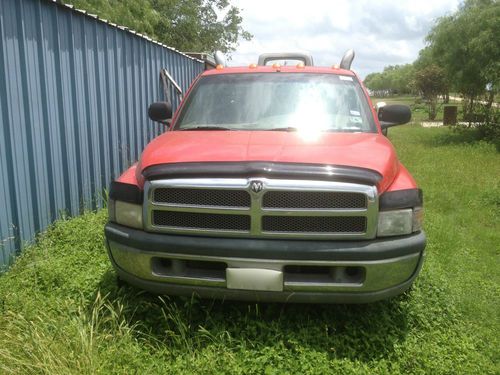
[{"label": "red Dodge pickup truck parked on grass beside metal wall", "polygon": [[[364,303],[403,293],[424,259],[422,191],[384,135],[408,107],[376,110],[350,70],[308,55],[201,74],[168,131],[111,183],[109,257],[154,293]],[[294,59],[282,66],[269,60]]]}]

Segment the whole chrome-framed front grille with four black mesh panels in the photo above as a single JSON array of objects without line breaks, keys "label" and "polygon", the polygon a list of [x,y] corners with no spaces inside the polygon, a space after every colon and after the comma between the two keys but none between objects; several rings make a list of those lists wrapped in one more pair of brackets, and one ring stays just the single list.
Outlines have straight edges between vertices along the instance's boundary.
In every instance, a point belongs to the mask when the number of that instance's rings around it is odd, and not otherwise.
[{"label": "whole chrome-framed front grille with four black mesh panels", "polygon": [[146,181],[145,192],[150,232],[325,240],[376,235],[376,186],[204,177]]}]

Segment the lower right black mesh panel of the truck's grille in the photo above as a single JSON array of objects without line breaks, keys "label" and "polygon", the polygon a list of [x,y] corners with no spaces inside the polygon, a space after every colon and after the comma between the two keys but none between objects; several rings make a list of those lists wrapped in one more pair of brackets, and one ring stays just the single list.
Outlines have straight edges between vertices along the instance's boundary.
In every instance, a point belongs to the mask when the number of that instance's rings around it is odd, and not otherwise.
[{"label": "lower right black mesh panel of the truck's grille", "polygon": [[364,216],[264,216],[264,232],[363,233]]}]

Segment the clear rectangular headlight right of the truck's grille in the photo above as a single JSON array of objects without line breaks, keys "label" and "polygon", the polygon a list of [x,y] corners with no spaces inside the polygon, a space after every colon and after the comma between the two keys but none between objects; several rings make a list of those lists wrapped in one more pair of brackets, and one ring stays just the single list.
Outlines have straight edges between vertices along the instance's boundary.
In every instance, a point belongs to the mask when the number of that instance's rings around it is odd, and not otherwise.
[{"label": "clear rectangular headlight right of the truck's grille", "polygon": [[377,236],[402,236],[422,228],[423,210],[420,207],[381,211],[378,216]]}]

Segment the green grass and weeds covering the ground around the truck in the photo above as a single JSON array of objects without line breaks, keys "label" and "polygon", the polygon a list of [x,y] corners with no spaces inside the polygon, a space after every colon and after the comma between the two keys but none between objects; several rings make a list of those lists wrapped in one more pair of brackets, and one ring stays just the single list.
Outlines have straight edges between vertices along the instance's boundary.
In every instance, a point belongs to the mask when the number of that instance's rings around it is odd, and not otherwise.
[{"label": "green grass and weeds covering the ground around the truck", "polygon": [[1,374],[499,373],[500,154],[389,130],[424,189],[413,289],[369,305],[203,301],[120,287],[104,211],[56,223],[0,277]]}]

